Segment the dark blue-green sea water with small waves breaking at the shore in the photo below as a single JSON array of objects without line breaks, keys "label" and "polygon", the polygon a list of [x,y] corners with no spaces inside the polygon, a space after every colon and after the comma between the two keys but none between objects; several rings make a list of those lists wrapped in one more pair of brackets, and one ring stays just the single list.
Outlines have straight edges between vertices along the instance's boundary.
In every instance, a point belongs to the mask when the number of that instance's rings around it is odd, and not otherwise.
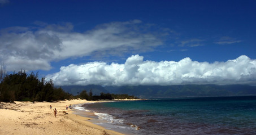
[{"label": "dark blue-green sea water with small waves breaking at the shore", "polygon": [[85,107],[131,134],[256,134],[256,96],[105,102]]}]

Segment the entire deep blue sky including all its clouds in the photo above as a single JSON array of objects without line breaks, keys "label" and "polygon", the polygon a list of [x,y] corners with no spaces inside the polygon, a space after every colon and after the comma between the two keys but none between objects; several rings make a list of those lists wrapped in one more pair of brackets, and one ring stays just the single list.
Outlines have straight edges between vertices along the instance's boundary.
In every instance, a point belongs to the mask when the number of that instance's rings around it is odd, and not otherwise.
[{"label": "entire deep blue sky including all its clouds", "polygon": [[254,84],[255,7],[0,0],[0,61],[58,85]]}]

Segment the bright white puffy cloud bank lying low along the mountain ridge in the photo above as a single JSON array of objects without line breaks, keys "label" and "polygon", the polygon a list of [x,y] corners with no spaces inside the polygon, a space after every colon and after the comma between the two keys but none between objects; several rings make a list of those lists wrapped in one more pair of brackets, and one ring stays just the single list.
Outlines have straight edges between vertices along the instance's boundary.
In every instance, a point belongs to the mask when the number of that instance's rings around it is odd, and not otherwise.
[{"label": "bright white puffy cloud bank lying low along the mountain ridge", "polygon": [[103,86],[173,84],[250,84],[256,81],[256,60],[242,55],[226,62],[197,62],[189,57],[180,61],[144,61],[133,55],[124,64],[89,62],[62,66],[47,75],[55,85]]}]

